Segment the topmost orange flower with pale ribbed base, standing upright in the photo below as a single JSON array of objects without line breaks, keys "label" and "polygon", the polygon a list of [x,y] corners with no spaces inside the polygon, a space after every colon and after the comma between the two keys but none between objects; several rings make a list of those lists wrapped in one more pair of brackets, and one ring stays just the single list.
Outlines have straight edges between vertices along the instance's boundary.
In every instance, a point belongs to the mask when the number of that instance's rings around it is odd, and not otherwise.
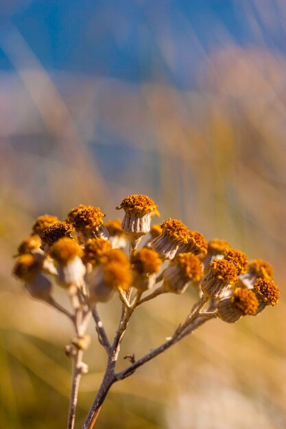
[{"label": "topmost orange flower with pale ribbed base, standing upright", "polygon": [[122,229],[130,237],[132,249],[135,250],[141,237],[150,231],[152,213],[157,206],[147,195],[128,195],[123,198],[117,210],[123,208]]}]

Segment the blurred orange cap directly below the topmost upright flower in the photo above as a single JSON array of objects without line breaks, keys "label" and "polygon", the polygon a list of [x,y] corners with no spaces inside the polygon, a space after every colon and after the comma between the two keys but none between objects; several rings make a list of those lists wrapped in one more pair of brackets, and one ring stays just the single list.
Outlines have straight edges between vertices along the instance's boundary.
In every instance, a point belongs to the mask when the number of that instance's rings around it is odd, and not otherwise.
[{"label": "blurred orange cap directly below the topmost upright flower", "polygon": [[162,260],[157,252],[147,247],[134,252],[131,258],[134,271],[138,273],[154,274],[160,271]]}]

